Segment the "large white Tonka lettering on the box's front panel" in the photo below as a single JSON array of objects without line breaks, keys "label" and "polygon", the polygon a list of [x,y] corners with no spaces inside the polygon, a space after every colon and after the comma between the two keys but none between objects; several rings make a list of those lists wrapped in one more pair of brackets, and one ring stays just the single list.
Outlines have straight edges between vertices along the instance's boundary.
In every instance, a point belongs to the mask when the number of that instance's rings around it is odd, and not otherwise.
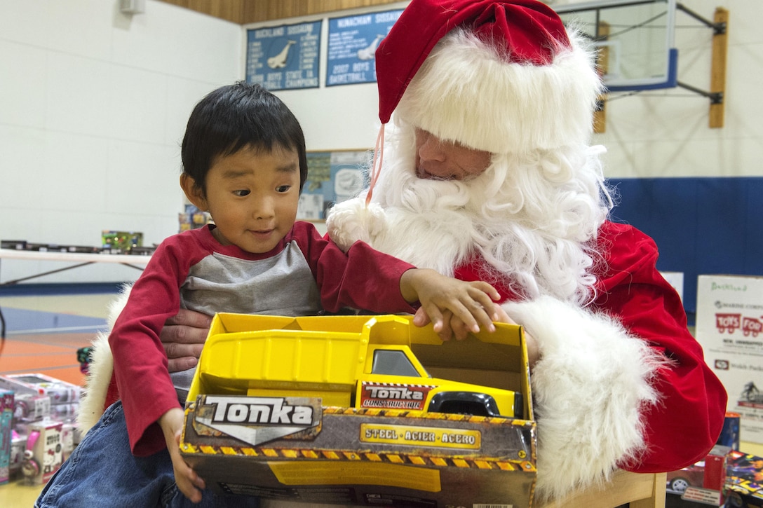
[{"label": "large white Tonka lettering on the box's front panel", "polygon": [[232,397],[207,396],[206,404],[216,404],[212,423],[245,423],[272,425],[311,425],[313,408],[290,406],[280,397]]}]

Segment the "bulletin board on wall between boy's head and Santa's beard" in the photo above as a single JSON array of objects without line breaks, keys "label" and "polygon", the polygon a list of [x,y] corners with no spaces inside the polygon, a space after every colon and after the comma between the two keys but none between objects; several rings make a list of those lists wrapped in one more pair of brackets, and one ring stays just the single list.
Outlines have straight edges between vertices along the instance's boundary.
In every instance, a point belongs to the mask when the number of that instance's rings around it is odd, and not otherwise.
[{"label": "bulletin board on wall between boy's head and Santa's beard", "polygon": [[299,197],[299,220],[325,220],[334,203],[355,197],[367,184],[371,150],[307,152],[307,182]]}]

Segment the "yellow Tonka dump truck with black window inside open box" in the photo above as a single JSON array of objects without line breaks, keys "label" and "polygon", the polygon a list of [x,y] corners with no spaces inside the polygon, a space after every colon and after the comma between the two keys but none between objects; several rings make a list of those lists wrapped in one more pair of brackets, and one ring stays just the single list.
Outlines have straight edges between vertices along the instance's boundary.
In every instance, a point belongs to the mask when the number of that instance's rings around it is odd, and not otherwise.
[{"label": "yellow Tonka dump truck with black window inside open box", "polygon": [[[411,340],[441,341],[433,333],[412,334],[410,318],[257,318],[219,315],[188,400],[199,393],[320,397],[323,406],[523,416],[520,391],[431,377]],[[231,320],[260,330],[222,332]]]}]

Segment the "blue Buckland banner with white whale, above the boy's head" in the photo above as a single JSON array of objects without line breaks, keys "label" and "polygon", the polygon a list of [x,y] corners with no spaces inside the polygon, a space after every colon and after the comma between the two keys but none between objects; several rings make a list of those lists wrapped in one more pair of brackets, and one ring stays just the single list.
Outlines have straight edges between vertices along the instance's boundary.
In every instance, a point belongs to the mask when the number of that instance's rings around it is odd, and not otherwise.
[{"label": "blue Buckland banner with white whale, above the boy's head", "polygon": [[318,88],[323,21],[246,31],[246,82],[268,90]]}]

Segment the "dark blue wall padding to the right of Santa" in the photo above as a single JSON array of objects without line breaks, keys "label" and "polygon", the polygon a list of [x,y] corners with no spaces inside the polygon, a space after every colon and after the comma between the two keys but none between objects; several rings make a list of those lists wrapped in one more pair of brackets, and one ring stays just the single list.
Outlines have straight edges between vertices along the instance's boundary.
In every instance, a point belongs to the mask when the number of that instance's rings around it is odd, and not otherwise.
[{"label": "dark blue wall padding to the right of Santa", "polygon": [[657,243],[657,268],[684,272],[684,307],[697,310],[697,276],[763,275],[763,177],[611,178],[616,222]]}]

